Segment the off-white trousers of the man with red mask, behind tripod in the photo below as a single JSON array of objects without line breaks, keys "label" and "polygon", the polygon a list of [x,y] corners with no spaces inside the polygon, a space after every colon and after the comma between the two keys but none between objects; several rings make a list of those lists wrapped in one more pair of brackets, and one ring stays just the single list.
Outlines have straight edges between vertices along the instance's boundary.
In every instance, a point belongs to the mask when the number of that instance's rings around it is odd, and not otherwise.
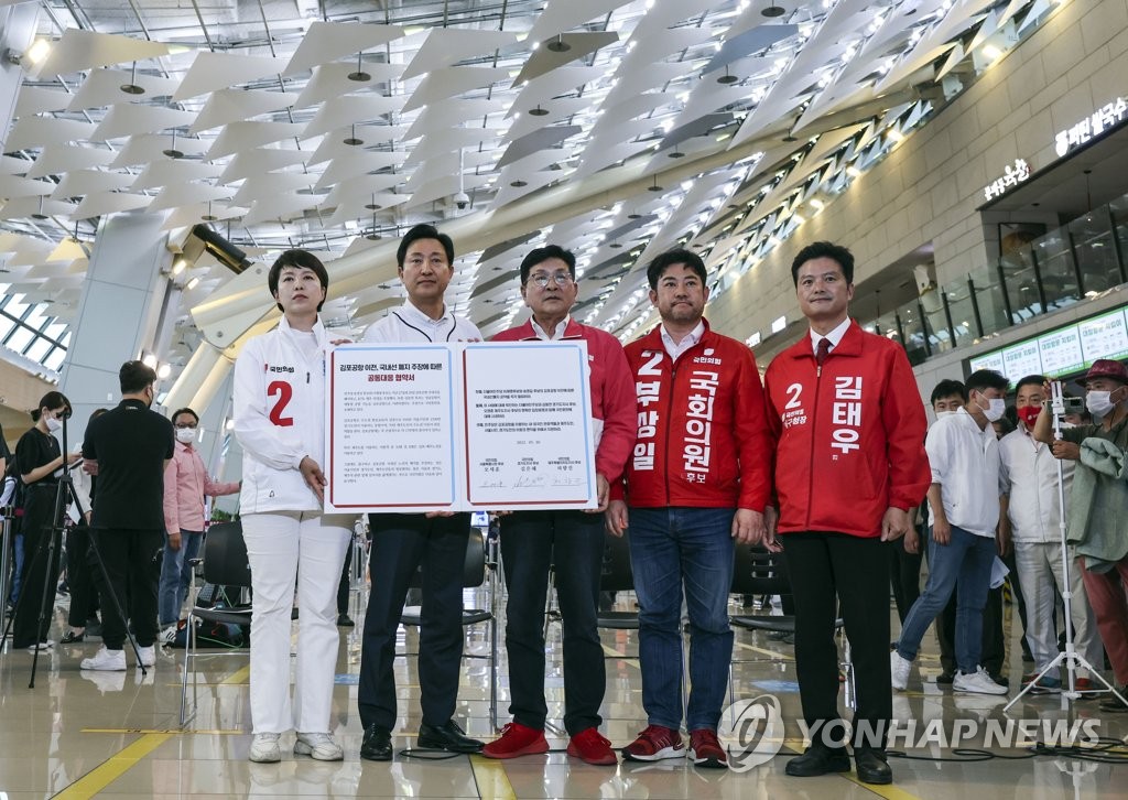
[{"label": "off-white trousers of the man with red mask, behind tripod", "polygon": [[[1042,671],[1058,654],[1058,634],[1054,627],[1054,606],[1058,592],[1065,591],[1061,570],[1061,544],[1059,542],[1014,543],[1014,565],[1019,570],[1022,598],[1026,601],[1026,644],[1034,657],[1037,671]],[[1057,590],[1055,591],[1055,587]],[[1096,631],[1096,617],[1089,605],[1085,584],[1081,578],[1081,566],[1069,548],[1069,588],[1073,591],[1073,635],[1077,654],[1101,669],[1104,654]],[[1058,625],[1065,630],[1065,621]],[[1089,677],[1089,670],[1077,670],[1081,677]],[[1050,670],[1049,676],[1059,677],[1059,670]]]}]

